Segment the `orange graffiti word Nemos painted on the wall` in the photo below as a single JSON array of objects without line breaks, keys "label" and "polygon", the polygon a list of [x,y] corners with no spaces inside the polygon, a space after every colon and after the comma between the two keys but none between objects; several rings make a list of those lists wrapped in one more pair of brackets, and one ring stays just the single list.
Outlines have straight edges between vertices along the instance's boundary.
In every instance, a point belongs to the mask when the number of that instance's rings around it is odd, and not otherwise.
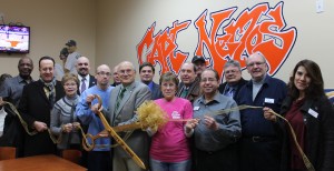
[{"label": "orange graffiti word Nemos painted on the wall", "polygon": [[229,20],[236,8],[212,13],[212,30],[206,33],[206,12],[196,21],[199,41],[195,50],[196,56],[204,56],[204,44],[209,53],[210,67],[223,74],[223,66],[234,59],[246,68],[245,59],[253,52],[261,51],[268,61],[268,74],[275,74],[288,57],[295,40],[296,29],[285,29],[286,23],[282,14],[283,2],[271,9],[268,3],[261,3],[253,9],[244,10],[236,19],[223,27],[223,34],[218,28]]}]

